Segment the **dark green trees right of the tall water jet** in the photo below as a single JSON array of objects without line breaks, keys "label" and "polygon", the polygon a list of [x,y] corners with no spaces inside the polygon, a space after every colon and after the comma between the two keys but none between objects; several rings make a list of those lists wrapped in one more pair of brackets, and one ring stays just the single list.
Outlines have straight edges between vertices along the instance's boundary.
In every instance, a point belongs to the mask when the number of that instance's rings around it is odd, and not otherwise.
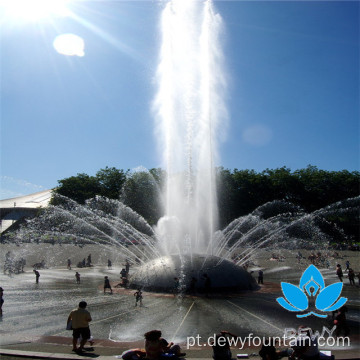
[{"label": "dark green trees right of the tall water jet", "polygon": [[360,195],[360,173],[325,171],[309,165],[291,172],[287,167],[233,171],[218,169],[220,223],[229,223],[273,200],[286,200],[307,212]]}]

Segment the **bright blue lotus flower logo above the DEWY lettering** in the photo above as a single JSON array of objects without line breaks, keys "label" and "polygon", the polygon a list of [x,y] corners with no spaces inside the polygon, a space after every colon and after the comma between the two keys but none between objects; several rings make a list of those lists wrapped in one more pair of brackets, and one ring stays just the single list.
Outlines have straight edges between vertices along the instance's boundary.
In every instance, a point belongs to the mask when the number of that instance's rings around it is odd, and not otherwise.
[{"label": "bright blue lotus flower logo above the DEWY lettering", "polygon": [[[284,298],[277,298],[276,301],[286,310],[305,311],[309,308],[309,298],[316,298],[316,309],[324,311],[334,311],[343,306],[347,298],[341,297],[343,287],[342,282],[331,284],[325,287],[324,278],[314,265],[310,265],[303,273],[299,287],[282,282],[281,289]],[[315,315],[321,318],[327,317],[325,314],[317,314],[310,311],[306,314],[296,315],[298,318]]]}]

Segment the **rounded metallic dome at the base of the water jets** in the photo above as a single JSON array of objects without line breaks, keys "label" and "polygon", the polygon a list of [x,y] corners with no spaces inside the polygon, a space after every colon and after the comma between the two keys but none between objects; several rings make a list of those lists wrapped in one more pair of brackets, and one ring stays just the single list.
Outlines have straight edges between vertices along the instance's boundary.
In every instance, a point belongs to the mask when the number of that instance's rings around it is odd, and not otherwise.
[{"label": "rounded metallic dome at the base of the water jets", "polygon": [[180,292],[190,291],[190,282],[197,279],[196,292],[204,292],[205,277],[211,279],[211,291],[237,292],[256,290],[255,279],[242,267],[217,256],[168,255],[142,265],[130,279],[130,287],[154,292],[173,292],[174,278],[180,282]]}]

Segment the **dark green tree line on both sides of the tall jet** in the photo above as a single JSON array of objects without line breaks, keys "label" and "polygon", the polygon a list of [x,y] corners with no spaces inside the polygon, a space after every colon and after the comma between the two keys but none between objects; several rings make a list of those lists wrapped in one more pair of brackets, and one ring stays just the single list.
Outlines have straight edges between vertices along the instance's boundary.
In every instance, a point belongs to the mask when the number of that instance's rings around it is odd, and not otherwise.
[{"label": "dark green tree line on both sides of the tall jet", "polygon": [[[327,171],[309,165],[295,171],[282,167],[262,172],[219,167],[216,173],[220,228],[273,200],[286,200],[313,212],[360,195],[359,171]],[[81,173],[58,180],[54,192],[80,204],[96,195],[119,199],[155,224],[163,214],[161,189],[165,178],[166,172],[159,168],[131,172],[106,167],[95,176]],[[358,232],[358,224],[355,227]]]}]

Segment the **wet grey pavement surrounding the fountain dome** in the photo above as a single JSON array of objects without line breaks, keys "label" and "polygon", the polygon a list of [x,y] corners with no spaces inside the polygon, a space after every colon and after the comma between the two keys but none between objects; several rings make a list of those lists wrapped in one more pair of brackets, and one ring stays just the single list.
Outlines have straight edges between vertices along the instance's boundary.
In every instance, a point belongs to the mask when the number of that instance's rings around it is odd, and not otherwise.
[{"label": "wet grey pavement surrounding the fountain dome", "polygon": [[[280,264],[282,265],[282,264]],[[4,288],[3,315],[0,318],[1,359],[6,351],[13,355],[43,358],[115,358],[124,350],[143,346],[143,334],[151,329],[161,329],[163,336],[182,344],[199,339],[199,346],[185,349],[187,358],[211,358],[207,340],[220,330],[229,330],[240,336],[282,336],[285,328],[309,325],[321,330],[332,328],[330,316],[297,319],[281,308],[276,298],[282,296],[279,282],[298,283],[298,268],[278,266],[277,271],[266,274],[264,286],[256,292],[236,295],[212,294],[210,298],[198,296],[174,297],[169,294],[144,293],[143,307],[135,307],[133,290],[114,288],[114,293],[103,293],[104,276],[109,276],[112,286],[119,280],[120,267],[108,269],[95,266],[67,270],[65,267],[40,270],[39,284],[31,268],[25,273],[0,275]],[[81,283],[75,282],[75,271],[81,273]],[[322,270],[326,284],[337,281],[334,272]],[[356,359],[359,356],[359,287],[344,286],[343,296],[348,301],[348,323],[351,329],[350,346],[331,347],[337,359]],[[66,331],[69,312],[81,300],[88,302],[93,321],[90,325],[95,338],[93,349],[78,355],[71,352],[71,331]],[[306,323],[304,324],[304,322]],[[22,353],[25,352],[25,353]],[[38,353],[39,354],[35,354]],[[258,348],[234,347],[233,354],[258,353]],[[34,355],[35,354],[35,355]],[[53,354],[53,355],[51,355]],[[63,356],[63,357],[61,357]],[[12,357],[14,359],[15,357]],[[256,357],[254,357],[256,359]]]}]

